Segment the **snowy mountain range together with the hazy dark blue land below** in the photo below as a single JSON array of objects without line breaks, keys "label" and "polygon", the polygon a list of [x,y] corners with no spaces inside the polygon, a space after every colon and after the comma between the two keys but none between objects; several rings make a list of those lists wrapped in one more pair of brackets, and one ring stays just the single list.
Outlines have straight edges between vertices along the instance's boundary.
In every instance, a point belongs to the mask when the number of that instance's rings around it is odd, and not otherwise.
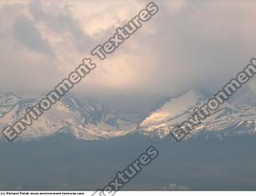
[{"label": "snowy mountain range together with the hazy dark blue land below", "polygon": [[[0,190],[97,190],[148,146],[159,156],[124,190],[256,190],[255,96],[238,90],[182,142],[169,134],[213,94],[189,90],[134,120],[66,94],[14,142],[0,136]],[[0,94],[0,128],[39,98]]]}]

